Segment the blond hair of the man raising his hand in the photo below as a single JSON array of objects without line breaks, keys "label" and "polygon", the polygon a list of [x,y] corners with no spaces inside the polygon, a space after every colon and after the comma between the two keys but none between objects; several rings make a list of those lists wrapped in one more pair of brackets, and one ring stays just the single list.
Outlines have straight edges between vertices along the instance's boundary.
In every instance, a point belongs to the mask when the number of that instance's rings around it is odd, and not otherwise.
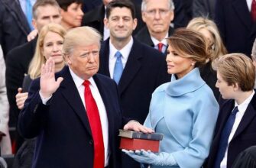
[{"label": "blond hair of the man raising his hand", "polygon": [[80,44],[92,45],[97,44],[100,48],[101,35],[95,28],[92,27],[75,27],[68,31],[64,37],[63,53],[64,55],[70,55],[73,53],[73,49]]}]

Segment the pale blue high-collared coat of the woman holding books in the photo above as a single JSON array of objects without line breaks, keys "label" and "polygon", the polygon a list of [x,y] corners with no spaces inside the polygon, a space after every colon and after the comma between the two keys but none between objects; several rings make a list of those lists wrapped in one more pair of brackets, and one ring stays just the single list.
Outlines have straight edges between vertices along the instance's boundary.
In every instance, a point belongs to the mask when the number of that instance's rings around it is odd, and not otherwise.
[{"label": "pale blue high-collared coat of the woman holding books", "polygon": [[171,82],[159,86],[144,125],[164,134],[160,152],[170,153],[177,163],[151,168],[201,167],[209,154],[218,112],[218,102],[198,68],[181,79],[173,75]]}]

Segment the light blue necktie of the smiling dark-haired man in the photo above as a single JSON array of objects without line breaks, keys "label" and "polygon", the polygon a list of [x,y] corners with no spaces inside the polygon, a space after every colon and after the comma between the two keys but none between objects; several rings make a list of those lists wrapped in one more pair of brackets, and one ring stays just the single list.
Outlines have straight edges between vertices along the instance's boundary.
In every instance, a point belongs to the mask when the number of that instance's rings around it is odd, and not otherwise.
[{"label": "light blue necktie of the smiling dark-haired man", "polygon": [[116,52],[115,57],[116,57],[116,61],[115,61],[113,79],[118,84],[123,72],[122,53],[120,53],[119,51]]}]

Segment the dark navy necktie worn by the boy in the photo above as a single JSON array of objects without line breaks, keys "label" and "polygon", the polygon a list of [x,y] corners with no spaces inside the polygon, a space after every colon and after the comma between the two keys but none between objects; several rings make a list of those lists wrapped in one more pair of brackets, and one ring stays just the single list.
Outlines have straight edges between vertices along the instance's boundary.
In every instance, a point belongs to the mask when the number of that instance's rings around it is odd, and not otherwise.
[{"label": "dark navy necktie worn by the boy", "polygon": [[236,106],[233,109],[232,113],[228,117],[227,122],[225,123],[225,127],[222,130],[222,135],[219,139],[219,148],[218,148],[218,153],[216,155],[214,168],[219,168],[220,163],[224,158],[225,150],[228,147],[228,137],[233,128],[233,124],[235,122],[235,115],[237,112],[238,112],[238,106]]}]

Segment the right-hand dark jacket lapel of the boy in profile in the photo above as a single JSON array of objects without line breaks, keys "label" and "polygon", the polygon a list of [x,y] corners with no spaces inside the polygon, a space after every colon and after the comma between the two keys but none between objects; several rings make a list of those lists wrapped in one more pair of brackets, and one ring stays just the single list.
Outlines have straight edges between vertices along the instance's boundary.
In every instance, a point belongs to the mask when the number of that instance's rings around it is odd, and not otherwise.
[{"label": "right-hand dark jacket lapel of the boy in profile", "polygon": [[256,105],[256,95],[255,94],[254,94],[253,98],[251,99],[251,102],[249,103],[248,107],[246,108],[245,115],[243,116],[243,118],[241,118],[240,124],[238,125],[238,128],[235,131],[234,137],[232,139],[234,139],[239,134],[241,134],[242,131],[244,131],[245,128],[247,128],[248,124],[250,124],[251,121],[255,118],[256,111],[255,111],[255,107],[253,105]]}]

